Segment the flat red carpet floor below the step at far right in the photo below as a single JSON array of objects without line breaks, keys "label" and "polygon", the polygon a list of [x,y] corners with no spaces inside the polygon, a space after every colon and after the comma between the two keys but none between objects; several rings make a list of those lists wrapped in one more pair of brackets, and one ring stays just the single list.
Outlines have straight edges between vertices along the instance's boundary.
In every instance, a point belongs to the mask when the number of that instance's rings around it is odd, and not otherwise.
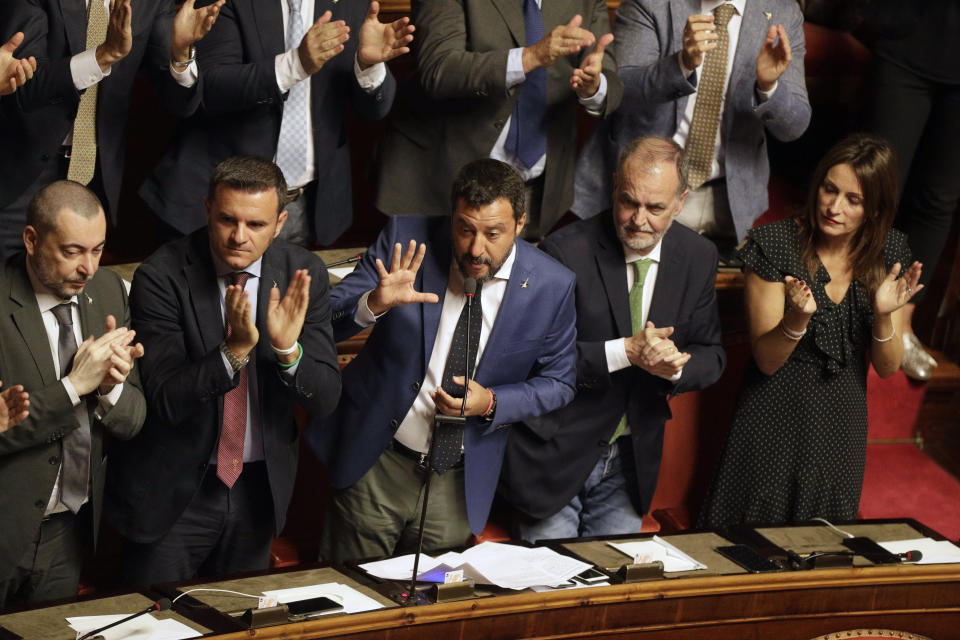
[{"label": "flat red carpet floor below the step at far right", "polygon": [[864,518],[914,518],[958,540],[960,482],[912,444],[871,444],[860,513]]}]

